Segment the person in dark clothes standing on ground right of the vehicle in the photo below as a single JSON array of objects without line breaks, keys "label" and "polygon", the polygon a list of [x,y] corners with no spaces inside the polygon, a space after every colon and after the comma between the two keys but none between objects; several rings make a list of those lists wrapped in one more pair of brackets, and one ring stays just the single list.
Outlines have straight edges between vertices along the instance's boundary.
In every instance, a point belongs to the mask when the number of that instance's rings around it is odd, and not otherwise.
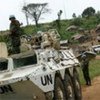
[{"label": "person in dark clothes standing on ground right of the vehicle", "polygon": [[85,53],[82,54],[82,71],[84,79],[86,81],[86,85],[91,85],[91,79],[89,76],[89,60]]}]

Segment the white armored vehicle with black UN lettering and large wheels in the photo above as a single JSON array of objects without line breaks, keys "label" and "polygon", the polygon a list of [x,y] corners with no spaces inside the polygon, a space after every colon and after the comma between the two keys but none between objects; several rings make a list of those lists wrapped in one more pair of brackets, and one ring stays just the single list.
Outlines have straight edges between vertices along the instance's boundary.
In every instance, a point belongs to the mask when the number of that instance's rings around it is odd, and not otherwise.
[{"label": "white armored vehicle with black UN lettering and large wheels", "polygon": [[0,58],[0,100],[82,100],[78,60],[52,47]]}]

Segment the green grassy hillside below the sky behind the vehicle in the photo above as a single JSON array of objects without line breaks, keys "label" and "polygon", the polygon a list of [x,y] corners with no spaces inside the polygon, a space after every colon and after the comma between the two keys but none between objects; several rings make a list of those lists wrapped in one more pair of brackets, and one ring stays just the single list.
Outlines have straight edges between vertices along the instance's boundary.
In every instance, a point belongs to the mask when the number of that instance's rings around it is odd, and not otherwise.
[{"label": "green grassy hillside below the sky behind the vehicle", "polygon": [[[77,33],[82,34],[83,31],[85,32],[87,30],[90,31],[92,29],[95,29],[96,26],[99,24],[99,22],[100,22],[100,16],[95,15],[89,18],[77,17],[70,20],[61,20],[59,23],[58,20],[56,20],[51,23],[39,24],[38,28],[35,25],[24,26],[22,28],[25,34],[28,35],[36,34],[37,31],[47,31],[49,29],[55,28],[59,31],[62,40],[65,39],[70,40],[71,37]],[[68,27],[73,25],[76,26],[77,29],[67,31]],[[5,41],[6,43],[8,43],[9,42],[9,36],[7,35],[8,33],[9,30],[0,32],[0,41]],[[77,44],[78,42],[74,41],[74,43]]]}]

